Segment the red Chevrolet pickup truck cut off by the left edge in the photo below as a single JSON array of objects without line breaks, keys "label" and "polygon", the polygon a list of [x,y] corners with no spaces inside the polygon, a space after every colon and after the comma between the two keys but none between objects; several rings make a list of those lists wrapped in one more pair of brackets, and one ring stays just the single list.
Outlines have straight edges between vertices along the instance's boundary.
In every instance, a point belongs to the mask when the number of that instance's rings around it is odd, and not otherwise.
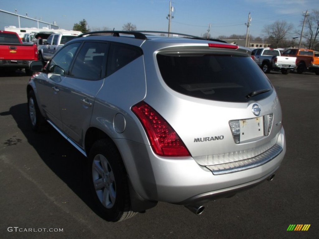
[{"label": "red Chevrolet pickup truck cut off by the left edge", "polygon": [[34,44],[23,44],[19,35],[14,32],[0,31],[0,68],[22,69],[32,75],[29,65],[38,60],[38,49]]}]

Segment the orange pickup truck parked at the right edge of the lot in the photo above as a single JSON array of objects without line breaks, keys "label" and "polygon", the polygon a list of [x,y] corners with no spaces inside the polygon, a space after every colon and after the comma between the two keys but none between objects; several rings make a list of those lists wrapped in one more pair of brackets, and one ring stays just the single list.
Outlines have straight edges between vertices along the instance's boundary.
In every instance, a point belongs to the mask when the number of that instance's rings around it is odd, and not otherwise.
[{"label": "orange pickup truck parked at the right edge of the lot", "polygon": [[290,48],[286,50],[283,56],[295,56],[297,58],[297,73],[301,74],[305,71],[315,72],[319,75],[319,57],[318,52],[303,48]]}]

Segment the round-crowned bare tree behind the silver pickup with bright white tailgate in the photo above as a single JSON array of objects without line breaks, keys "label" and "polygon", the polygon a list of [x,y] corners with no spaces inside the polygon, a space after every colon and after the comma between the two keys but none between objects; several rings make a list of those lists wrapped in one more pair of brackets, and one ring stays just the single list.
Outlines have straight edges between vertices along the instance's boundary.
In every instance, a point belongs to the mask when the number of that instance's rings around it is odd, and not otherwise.
[{"label": "round-crowned bare tree behind the silver pickup with bright white tailgate", "polygon": [[288,24],[286,21],[276,21],[271,25],[266,25],[263,28],[268,40],[271,40],[271,45],[275,48],[279,47],[279,44],[286,38],[286,35],[293,29],[292,24]]}]

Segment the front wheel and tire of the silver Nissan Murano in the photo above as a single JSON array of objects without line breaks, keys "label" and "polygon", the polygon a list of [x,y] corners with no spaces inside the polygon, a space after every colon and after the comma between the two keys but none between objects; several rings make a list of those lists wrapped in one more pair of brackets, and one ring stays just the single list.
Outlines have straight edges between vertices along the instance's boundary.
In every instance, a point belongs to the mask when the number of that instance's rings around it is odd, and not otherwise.
[{"label": "front wheel and tire of the silver Nissan Murano", "polygon": [[32,130],[38,133],[41,132],[46,121],[39,110],[35,94],[32,90],[28,93],[28,114]]}]

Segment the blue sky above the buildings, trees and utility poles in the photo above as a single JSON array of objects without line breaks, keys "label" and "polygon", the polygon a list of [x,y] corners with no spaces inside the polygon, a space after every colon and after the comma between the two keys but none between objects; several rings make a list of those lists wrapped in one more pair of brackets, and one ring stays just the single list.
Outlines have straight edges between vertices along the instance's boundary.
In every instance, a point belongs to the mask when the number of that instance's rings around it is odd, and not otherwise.
[{"label": "blue sky above the buildings, trees and utility poles", "polygon": [[[42,3],[41,3],[42,2]],[[45,3],[48,4],[45,4]],[[211,37],[245,35],[245,23],[251,13],[252,36],[262,36],[263,26],[285,20],[301,29],[302,12],[319,10],[319,0],[174,0],[171,32],[201,36],[211,23]],[[0,9],[50,22],[71,30],[83,18],[93,28],[122,30],[128,22],[137,30],[167,31],[169,0],[3,0]],[[1,21],[1,19],[0,19]],[[3,30],[3,29],[1,29]]]}]

